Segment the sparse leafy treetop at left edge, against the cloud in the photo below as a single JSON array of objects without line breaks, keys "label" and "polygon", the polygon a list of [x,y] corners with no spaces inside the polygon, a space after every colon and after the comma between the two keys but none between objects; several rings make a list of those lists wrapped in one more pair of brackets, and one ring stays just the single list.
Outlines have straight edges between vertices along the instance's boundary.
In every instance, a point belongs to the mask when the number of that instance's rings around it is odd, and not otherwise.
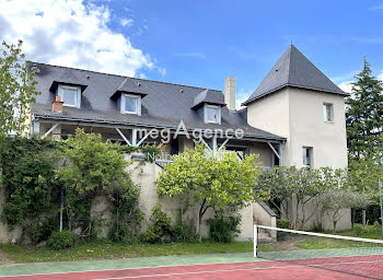
[{"label": "sparse leafy treetop at left edge, against the cloud", "polygon": [[20,133],[27,128],[30,104],[40,94],[34,73],[27,72],[21,47],[22,40],[18,45],[3,42],[0,50],[0,135]]}]

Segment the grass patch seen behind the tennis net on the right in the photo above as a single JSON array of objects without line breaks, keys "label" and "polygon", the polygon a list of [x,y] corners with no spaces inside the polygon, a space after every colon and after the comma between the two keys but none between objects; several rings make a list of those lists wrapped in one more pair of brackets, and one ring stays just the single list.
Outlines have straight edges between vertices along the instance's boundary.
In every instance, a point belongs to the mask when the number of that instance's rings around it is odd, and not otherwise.
[{"label": "grass patch seen behind the tennis net on the right", "polygon": [[[329,232],[326,232],[329,233]],[[339,235],[362,237],[362,238],[372,238],[381,240],[381,228],[374,225],[368,225],[365,233],[357,234],[356,231],[343,231],[338,233]],[[307,237],[305,241],[299,242],[295,244],[295,247],[302,249],[326,249],[326,248],[350,248],[350,247],[376,247],[378,244],[368,244],[361,242],[352,241],[340,241],[334,238],[324,238],[324,237]]]}]

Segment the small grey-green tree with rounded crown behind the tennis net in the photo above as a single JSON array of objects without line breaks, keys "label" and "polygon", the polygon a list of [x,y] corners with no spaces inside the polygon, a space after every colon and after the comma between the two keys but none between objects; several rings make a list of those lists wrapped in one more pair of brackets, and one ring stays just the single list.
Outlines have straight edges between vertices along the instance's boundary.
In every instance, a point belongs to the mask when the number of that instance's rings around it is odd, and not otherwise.
[{"label": "small grey-green tree with rounded crown behind the tennis net", "polygon": [[333,221],[333,233],[336,233],[338,221],[347,213],[350,208],[365,207],[368,198],[360,192],[338,189],[324,192],[317,198],[322,206],[322,211]]}]

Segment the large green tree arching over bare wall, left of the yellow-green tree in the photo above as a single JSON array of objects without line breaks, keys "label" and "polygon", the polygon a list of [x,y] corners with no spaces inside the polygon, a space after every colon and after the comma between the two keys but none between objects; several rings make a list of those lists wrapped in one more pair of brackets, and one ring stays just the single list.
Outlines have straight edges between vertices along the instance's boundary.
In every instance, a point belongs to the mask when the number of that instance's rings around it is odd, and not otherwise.
[{"label": "large green tree arching over bare wall, left of the yellow-green tree", "polygon": [[126,171],[130,162],[124,159],[116,144],[102,142],[101,135],[77,129],[76,136],[65,142],[62,155],[57,178],[65,188],[69,229],[78,221],[84,235],[91,236],[92,201],[97,195],[106,195],[113,203],[114,231],[117,231],[112,237],[124,240],[120,236],[124,232],[132,234],[141,219],[139,189]]}]

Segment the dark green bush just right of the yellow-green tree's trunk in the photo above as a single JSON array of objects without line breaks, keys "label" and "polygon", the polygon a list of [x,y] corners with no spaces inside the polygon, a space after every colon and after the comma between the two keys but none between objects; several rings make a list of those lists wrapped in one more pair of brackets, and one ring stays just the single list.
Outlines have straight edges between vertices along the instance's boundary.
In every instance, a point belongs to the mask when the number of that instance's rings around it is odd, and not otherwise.
[{"label": "dark green bush just right of the yellow-green tree's trunk", "polygon": [[220,212],[206,222],[210,225],[210,238],[214,242],[231,243],[241,233],[239,214],[225,217]]}]

